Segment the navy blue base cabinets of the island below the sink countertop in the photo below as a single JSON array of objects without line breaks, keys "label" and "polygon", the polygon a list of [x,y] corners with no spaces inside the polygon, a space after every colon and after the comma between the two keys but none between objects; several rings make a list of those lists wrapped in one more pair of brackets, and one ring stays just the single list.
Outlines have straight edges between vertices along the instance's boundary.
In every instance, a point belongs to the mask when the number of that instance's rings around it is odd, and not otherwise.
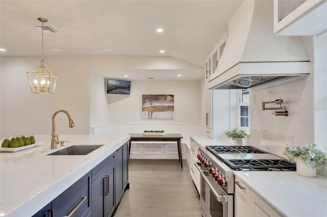
[{"label": "navy blue base cabinets of the island below the sink countertop", "polygon": [[108,217],[129,188],[128,143],[67,188],[33,217]]}]

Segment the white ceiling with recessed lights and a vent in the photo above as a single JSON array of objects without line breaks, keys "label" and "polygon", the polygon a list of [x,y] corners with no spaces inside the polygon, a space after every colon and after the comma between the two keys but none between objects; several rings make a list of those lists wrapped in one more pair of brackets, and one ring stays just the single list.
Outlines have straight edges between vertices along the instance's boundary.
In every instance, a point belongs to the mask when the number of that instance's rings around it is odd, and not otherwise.
[{"label": "white ceiling with recessed lights and a vent", "polygon": [[[0,1],[2,56],[172,57],[203,67],[242,1]],[[164,32],[157,33],[162,28]],[[50,49],[62,49],[53,52]],[[113,49],[104,52],[103,49]],[[164,49],[165,53],[159,53]],[[197,67],[199,68],[199,67]],[[105,69],[104,69],[105,70]],[[203,69],[190,70],[194,79]],[[145,77],[152,77],[145,70]],[[112,75],[111,75],[112,76]],[[193,79],[192,78],[192,79]]]}]

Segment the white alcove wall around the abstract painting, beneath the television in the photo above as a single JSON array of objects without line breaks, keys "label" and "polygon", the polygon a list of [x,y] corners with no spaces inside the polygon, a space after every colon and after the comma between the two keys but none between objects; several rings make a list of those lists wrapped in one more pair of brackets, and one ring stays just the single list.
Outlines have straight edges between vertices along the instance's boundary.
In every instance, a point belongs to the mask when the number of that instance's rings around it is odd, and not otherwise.
[{"label": "white alcove wall around the abstract painting, beneath the television", "polygon": [[[199,80],[132,80],[129,95],[106,94],[104,80],[95,74],[90,79],[91,87],[97,87],[91,91],[90,103],[90,122],[95,133],[165,130],[167,133],[181,133],[185,143],[188,143],[190,134],[199,134]],[[173,94],[174,119],[142,119],[143,94]]]}]

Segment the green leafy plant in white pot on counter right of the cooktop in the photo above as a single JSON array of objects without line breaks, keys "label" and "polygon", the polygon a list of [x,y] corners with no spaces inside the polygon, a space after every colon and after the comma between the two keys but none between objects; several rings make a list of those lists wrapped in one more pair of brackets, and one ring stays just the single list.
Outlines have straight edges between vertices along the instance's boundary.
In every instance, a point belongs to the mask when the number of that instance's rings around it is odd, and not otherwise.
[{"label": "green leafy plant in white pot on counter right of the cooktop", "polygon": [[300,176],[315,177],[317,169],[324,166],[327,154],[316,148],[316,144],[306,146],[287,147],[283,154],[291,162],[296,162],[296,173]]}]

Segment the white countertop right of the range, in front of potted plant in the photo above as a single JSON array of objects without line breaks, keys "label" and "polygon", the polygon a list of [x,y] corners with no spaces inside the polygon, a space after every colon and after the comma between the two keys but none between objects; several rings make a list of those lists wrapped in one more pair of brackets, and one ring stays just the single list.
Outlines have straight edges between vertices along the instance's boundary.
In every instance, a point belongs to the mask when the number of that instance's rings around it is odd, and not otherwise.
[{"label": "white countertop right of the range, in front of potted plant", "polygon": [[236,171],[234,174],[285,216],[327,216],[325,176],[306,178],[286,171]]}]

